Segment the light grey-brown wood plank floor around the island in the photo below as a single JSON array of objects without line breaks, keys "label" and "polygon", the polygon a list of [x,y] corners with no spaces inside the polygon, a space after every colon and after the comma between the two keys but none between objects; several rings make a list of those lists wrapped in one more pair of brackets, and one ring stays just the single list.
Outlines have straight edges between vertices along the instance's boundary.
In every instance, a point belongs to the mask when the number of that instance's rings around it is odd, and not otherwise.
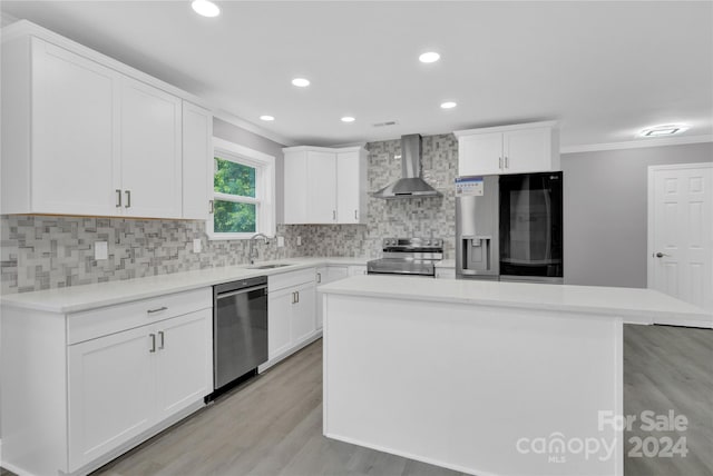
[{"label": "light grey-brown wood plank floor around the island", "polygon": [[[690,420],[686,458],[625,458],[625,475],[713,476],[713,330],[626,326],[624,384],[626,414],[674,409]],[[625,438],[634,435],[676,436],[635,430]],[[95,475],[458,473],[324,438],[319,340]]]}]

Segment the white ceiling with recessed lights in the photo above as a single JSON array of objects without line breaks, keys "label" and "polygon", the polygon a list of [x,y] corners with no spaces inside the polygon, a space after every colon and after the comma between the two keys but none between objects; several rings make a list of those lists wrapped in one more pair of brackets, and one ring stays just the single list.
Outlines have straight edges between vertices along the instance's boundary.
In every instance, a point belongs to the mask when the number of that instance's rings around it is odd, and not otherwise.
[{"label": "white ceiling with recessed lights", "polygon": [[[713,133],[713,2],[2,1],[284,142],[560,119],[564,147]],[[422,65],[419,53],[439,51]],[[312,81],[293,87],[292,78]],[[441,110],[445,100],[458,107]],[[274,122],[261,122],[272,115]],[[356,121],[343,123],[342,116]],[[394,127],[375,122],[397,120]]]}]

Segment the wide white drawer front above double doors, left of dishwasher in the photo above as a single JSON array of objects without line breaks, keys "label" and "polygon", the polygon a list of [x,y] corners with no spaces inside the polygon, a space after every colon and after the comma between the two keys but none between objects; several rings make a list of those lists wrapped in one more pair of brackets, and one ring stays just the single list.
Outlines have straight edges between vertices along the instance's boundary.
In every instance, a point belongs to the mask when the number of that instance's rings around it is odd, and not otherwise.
[{"label": "wide white drawer front above double doors, left of dishwasher", "polygon": [[213,288],[202,288],[70,314],[67,341],[72,345],[212,307]]}]

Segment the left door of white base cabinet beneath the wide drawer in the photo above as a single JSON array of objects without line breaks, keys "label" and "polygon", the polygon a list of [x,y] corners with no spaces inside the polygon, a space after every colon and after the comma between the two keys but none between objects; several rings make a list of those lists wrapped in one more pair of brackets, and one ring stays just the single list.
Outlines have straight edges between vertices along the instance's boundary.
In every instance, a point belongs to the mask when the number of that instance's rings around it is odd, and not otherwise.
[{"label": "left door of white base cabinet beneath the wide drawer", "polygon": [[69,469],[156,420],[156,351],[147,326],[68,347]]}]

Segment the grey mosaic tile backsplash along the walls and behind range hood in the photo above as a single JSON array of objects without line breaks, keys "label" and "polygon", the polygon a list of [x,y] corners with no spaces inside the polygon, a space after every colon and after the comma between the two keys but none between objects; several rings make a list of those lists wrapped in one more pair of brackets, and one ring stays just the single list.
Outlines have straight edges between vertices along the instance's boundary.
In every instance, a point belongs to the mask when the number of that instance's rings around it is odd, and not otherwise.
[{"label": "grey mosaic tile backsplash along the walls and behind range hood", "polygon": [[[400,140],[371,142],[369,191],[401,175]],[[446,240],[455,255],[453,178],[458,142],[452,135],[423,138],[423,176],[442,198],[382,200],[369,197],[367,225],[280,225],[276,240],[257,241],[260,259],[297,256],[381,255],[384,237],[422,236]],[[139,220],[47,216],[2,216],[0,275],[2,294],[131,279],[247,262],[247,240],[208,240],[202,221]],[[302,245],[296,245],[296,238]],[[199,238],[203,251],[193,252]],[[107,241],[109,258],[94,259],[94,242]]]}]

